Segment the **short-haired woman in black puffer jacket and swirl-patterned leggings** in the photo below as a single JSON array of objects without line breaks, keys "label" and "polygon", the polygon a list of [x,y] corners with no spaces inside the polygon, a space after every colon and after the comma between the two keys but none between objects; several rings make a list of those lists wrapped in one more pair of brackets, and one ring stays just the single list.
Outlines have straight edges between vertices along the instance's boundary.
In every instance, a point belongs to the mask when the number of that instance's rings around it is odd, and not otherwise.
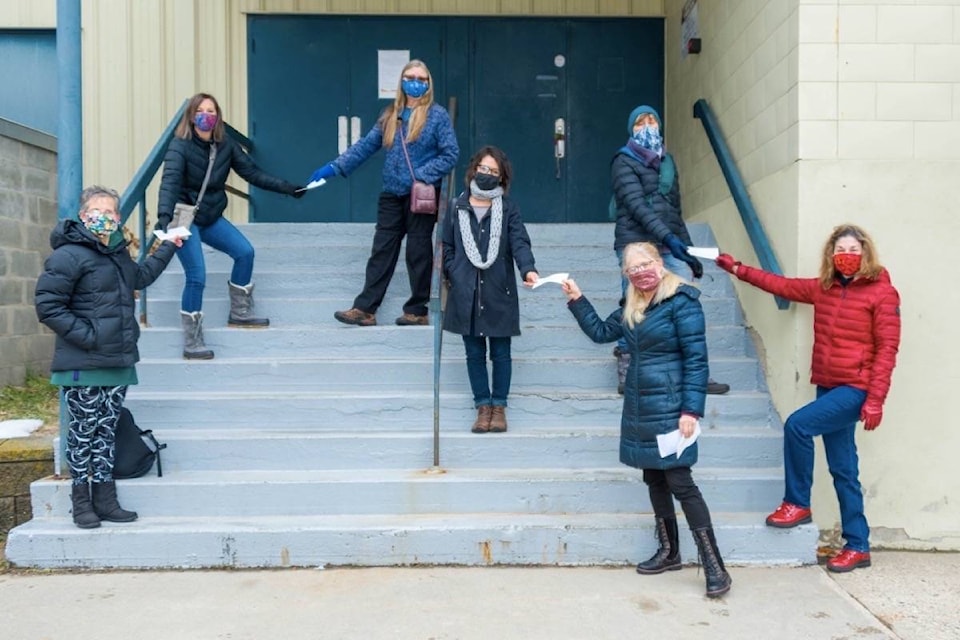
[{"label": "short-haired woman in black puffer jacket and swirl-patterned leggings", "polygon": [[50,382],[63,387],[73,521],[82,529],[137,519],[120,507],[113,482],[117,420],[127,387],[137,383],[140,359],[134,291],[156,280],[175,250],[164,242],[143,264],[134,262],[123,241],[119,201],[104,187],[80,194],[77,217],[50,234],[53,253],[35,297],[37,317],[57,334]]}]

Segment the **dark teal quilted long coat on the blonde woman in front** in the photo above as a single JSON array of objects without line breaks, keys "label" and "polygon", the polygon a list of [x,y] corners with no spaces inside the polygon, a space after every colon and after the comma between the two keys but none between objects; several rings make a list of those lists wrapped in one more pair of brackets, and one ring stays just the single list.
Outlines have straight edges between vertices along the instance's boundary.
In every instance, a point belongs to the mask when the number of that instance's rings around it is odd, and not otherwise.
[{"label": "dark teal quilted long coat on the blonde woman in front", "polygon": [[676,294],[647,307],[633,329],[622,322],[622,309],[601,320],[581,296],[569,303],[580,328],[594,342],[622,335],[630,349],[630,368],[620,418],[620,462],[638,469],[690,467],[697,443],[675,455],[660,457],[657,435],[675,431],[683,411],[703,416],[707,393],[707,339],[700,290],[680,285]]}]

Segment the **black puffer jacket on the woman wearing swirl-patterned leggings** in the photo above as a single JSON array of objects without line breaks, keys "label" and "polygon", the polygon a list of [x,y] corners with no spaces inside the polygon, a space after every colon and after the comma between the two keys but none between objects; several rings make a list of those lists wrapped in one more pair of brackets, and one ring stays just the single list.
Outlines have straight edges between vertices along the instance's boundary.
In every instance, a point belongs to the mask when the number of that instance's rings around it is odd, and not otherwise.
[{"label": "black puffer jacket on the woman wearing swirl-patterned leggings", "polygon": [[50,233],[54,251],[37,279],[37,318],[57,334],[53,371],[132,367],[140,354],[133,292],[150,285],[176,251],[164,242],[143,264],[127,243],[103,245],[77,220]]}]

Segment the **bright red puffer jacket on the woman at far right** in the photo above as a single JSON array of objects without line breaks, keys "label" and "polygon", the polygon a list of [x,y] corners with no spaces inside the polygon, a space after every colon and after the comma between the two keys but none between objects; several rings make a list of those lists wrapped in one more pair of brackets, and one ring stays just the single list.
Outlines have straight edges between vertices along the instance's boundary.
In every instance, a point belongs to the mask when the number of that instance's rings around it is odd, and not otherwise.
[{"label": "bright red puffer jacket on the woman at far right", "polygon": [[813,361],[810,382],[850,385],[867,398],[887,397],[900,347],[900,295],[884,269],[876,280],[857,278],[826,291],[816,278],[785,278],[747,266],[737,277],[764,291],[813,305]]}]

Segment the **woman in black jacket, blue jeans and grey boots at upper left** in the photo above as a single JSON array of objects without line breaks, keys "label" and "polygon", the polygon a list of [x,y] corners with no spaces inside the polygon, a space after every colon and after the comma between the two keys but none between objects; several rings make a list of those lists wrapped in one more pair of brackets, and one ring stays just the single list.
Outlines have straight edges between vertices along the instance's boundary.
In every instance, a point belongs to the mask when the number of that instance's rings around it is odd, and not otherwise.
[{"label": "woman in black jacket, blue jeans and grey boots at upper left", "polygon": [[[210,179],[204,189],[204,177],[211,162]],[[191,236],[184,240],[183,247],[177,252],[186,276],[180,315],[184,332],[183,357],[188,359],[209,360],[213,357],[213,351],[203,343],[201,309],[206,286],[206,265],[202,244],[233,258],[228,284],[228,324],[231,327],[264,327],[270,324],[266,318],[253,315],[253,245],[223,217],[227,207],[227,177],[231,169],[261,189],[295,198],[303,195],[296,185],[257,168],[240,145],[226,135],[223,113],[216,98],[207,93],[198,93],[187,103],[177,126],[176,137],[167,149],[157,206],[157,227],[166,229],[173,219],[177,203],[198,205],[190,226]]]}]

